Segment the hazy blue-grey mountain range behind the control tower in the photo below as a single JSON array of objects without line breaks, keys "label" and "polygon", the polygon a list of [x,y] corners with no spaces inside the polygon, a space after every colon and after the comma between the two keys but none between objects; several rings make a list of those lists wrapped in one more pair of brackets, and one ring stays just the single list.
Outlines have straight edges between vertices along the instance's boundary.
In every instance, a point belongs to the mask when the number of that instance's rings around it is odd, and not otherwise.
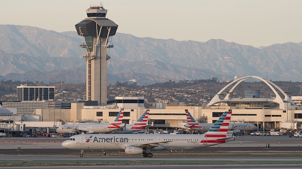
[{"label": "hazy blue-grey mountain range behind the control tower", "polygon": [[[74,31],[0,25],[0,78],[12,81],[85,82],[85,60]],[[206,42],[139,38],[117,33],[108,60],[108,83],[135,79],[138,85],[184,79],[233,79],[255,75],[301,81],[302,43],[255,48],[210,39]]]}]

